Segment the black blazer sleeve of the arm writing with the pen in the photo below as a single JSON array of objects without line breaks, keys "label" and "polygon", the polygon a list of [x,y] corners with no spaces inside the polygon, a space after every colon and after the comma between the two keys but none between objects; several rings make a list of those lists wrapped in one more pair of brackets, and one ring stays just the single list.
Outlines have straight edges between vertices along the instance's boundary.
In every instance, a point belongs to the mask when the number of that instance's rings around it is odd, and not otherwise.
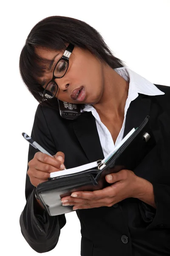
[{"label": "black blazer sleeve of the arm writing with the pen", "polygon": [[[40,143],[50,154],[57,153],[48,129],[41,105],[38,105],[34,117],[31,137]],[[28,162],[38,150],[29,146]],[[27,167],[28,170],[28,167]],[[21,232],[28,244],[38,253],[52,250],[59,240],[60,229],[66,223],[65,215],[50,216],[42,209],[34,197],[35,187],[26,175],[26,206],[20,215]]]}]

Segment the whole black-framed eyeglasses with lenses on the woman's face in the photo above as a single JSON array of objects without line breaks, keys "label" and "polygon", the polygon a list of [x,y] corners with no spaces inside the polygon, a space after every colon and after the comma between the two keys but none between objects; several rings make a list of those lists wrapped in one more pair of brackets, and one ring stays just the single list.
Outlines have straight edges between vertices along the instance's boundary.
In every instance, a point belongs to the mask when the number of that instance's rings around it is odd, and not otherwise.
[{"label": "whole black-framed eyeglasses with lenses on the woman's face", "polygon": [[65,73],[67,72],[68,66],[69,66],[69,58],[70,58],[70,55],[71,55],[73,49],[74,49],[74,45],[69,44],[67,49],[65,50],[64,54],[62,55],[62,57],[59,59],[59,61],[55,65],[54,71],[53,71],[53,78],[45,86],[45,89],[43,92],[43,97],[45,99],[53,99],[56,96],[57,91],[58,91],[58,85],[54,81],[54,79],[62,78],[65,75]]}]

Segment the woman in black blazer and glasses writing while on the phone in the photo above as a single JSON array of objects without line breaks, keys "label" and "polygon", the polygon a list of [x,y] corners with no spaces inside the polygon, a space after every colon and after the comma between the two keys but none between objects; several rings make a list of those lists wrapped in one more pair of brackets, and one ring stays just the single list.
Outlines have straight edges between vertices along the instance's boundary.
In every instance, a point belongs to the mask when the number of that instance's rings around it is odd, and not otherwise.
[{"label": "woman in black blazer and glasses writing while on the phone", "polygon": [[[107,189],[76,192],[62,204],[77,210],[82,256],[170,255],[170,88],[125,67],[94,28],[70,17],[48,17],[34,26],[20,55],[20,73],[40,102],[31,137],[55,155],[29,148],[20,216],[28,244],[39,253],[52,250],[66,223],[65,215],[47,214],[35,187],[51,172],[103,159],[150,115],[157,145],[142,163],[133,172],[108,175]],[[81,105],[81,115],[62,118],[57,99]]]}]

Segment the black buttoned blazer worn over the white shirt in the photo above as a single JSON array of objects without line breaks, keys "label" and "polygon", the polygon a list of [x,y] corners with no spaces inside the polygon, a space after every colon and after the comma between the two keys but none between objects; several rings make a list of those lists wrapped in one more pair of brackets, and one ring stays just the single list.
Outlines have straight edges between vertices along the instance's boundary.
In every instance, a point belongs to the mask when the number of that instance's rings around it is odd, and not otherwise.
[{"label": "black buttoned blazer worn over the white shirt", "polygon": [[[127,198],[113,207],[77,210],[82,256],[170,255],[170,87],[156,86],[165,95],[139,94],[127,111],[124,136],[150,115],[157,145],[134,172],[153,184],[157,209]],[[66,120],[55,108],[38,105],[31,137],[52,155],[64,152],[66,168],[104,158],[91,112],[82,113],[77,120]],[[30,146],[28,161],[36,152]],[[66,223],[65,215],[51,217],[40,209],[28,175],[26,200],[20,216],[23,236],[39,253],[52,250]]]}]

